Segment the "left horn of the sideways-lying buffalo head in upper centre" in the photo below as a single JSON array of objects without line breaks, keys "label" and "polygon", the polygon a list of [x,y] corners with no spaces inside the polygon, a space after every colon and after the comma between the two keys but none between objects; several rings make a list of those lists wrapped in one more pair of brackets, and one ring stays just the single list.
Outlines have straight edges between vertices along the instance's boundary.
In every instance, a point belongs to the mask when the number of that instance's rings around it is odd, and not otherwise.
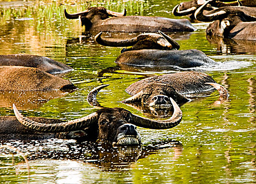
[{"label": "left horn of the sideways-lying buffalo head in upper centre", "polygon": [[98,44],[104,45],[104,46],[110,46],[110,47],[128,47],[128,46],[132,46],[134,44],[136,44],[138,42],[137,37],[135,38],[131,38],[131,39],[125,39],[125,40],[121,40],[121,41],[110,41],[110,40],[106,40],[103,39],[101,37],[102,32],[100,32],[99,34],[97,34],[95,36],[95,41]]}]

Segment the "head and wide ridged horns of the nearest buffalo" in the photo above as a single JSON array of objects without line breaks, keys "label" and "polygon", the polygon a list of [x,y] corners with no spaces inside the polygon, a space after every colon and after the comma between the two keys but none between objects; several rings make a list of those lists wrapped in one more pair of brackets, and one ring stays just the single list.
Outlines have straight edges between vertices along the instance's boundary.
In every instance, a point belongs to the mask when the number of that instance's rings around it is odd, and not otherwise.
[{"label": "head and wide ridged horns of the nearest buffalo", "polygon": [[[88,95],[90,104],[95,103],[98,91],[107,85],[97,87]],[[153,120],[132,114],[123,108],[102,108],[96,112],[67,122],[44,124],[24,117],[13,105],[14,113],[19,122],[26,127],[41,132],[63,132],[66,137],[80,139],[88,137],[99,141],[108,141],[116,145],[140,145],[141,137],[136,126],[152,129],[168,129],[177,126],[182,119],[179,106],[171,99],[174,113],[167,120]],[[99,105],[100,106],[100,105]]]}]

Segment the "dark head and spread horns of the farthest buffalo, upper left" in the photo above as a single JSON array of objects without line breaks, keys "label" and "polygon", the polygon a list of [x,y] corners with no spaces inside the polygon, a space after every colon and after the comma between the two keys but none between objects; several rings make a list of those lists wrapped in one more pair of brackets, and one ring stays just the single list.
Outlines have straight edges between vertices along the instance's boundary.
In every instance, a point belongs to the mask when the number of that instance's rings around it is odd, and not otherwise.
[{"label": "dark head and spread horns of the farthest buffalo, upper left", "polygon": [[116,17],[116,16],[125,16],[126,9],[124,9],[123,13],[112,12],[109,9],[104,7],[91,7],[86,9],[86,11],[76,14],[68,14],[66,9],[64,10],[65,17],[67,19],[81,19],[82,26],[84,25],[86,29],[90,29],[90,27],[101,20]]}]

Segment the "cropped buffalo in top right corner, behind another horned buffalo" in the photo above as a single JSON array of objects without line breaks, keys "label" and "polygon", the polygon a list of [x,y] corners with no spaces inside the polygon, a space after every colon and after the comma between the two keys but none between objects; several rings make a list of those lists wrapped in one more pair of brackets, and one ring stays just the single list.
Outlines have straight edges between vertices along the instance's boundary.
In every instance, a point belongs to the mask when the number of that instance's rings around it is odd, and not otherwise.
[{"label": "cropped buffalo in top right corner, behind another horned buffalo", "polygon": [[[189,15],[192,20],[195,19],[194,13],[196,9],[198,9],[201,5],[203,5],[206,1],[205,0],[192,0],[188,2],[182,2],[178,5],[176,5],[172,13],[175,16],[185,16]],[[228,2],[228,1],[225,1]],[[227,7],[227,6],[250,6],[255,7],[256,1],[255,0],[241,0],[234,2],[231,0],[230,3],[224,3],[224,1],[212,1],[209,3],[208,6],[204,8],[205,13],[208,11],[212,11],[213,9],[219,8],[219,7]]]}]

